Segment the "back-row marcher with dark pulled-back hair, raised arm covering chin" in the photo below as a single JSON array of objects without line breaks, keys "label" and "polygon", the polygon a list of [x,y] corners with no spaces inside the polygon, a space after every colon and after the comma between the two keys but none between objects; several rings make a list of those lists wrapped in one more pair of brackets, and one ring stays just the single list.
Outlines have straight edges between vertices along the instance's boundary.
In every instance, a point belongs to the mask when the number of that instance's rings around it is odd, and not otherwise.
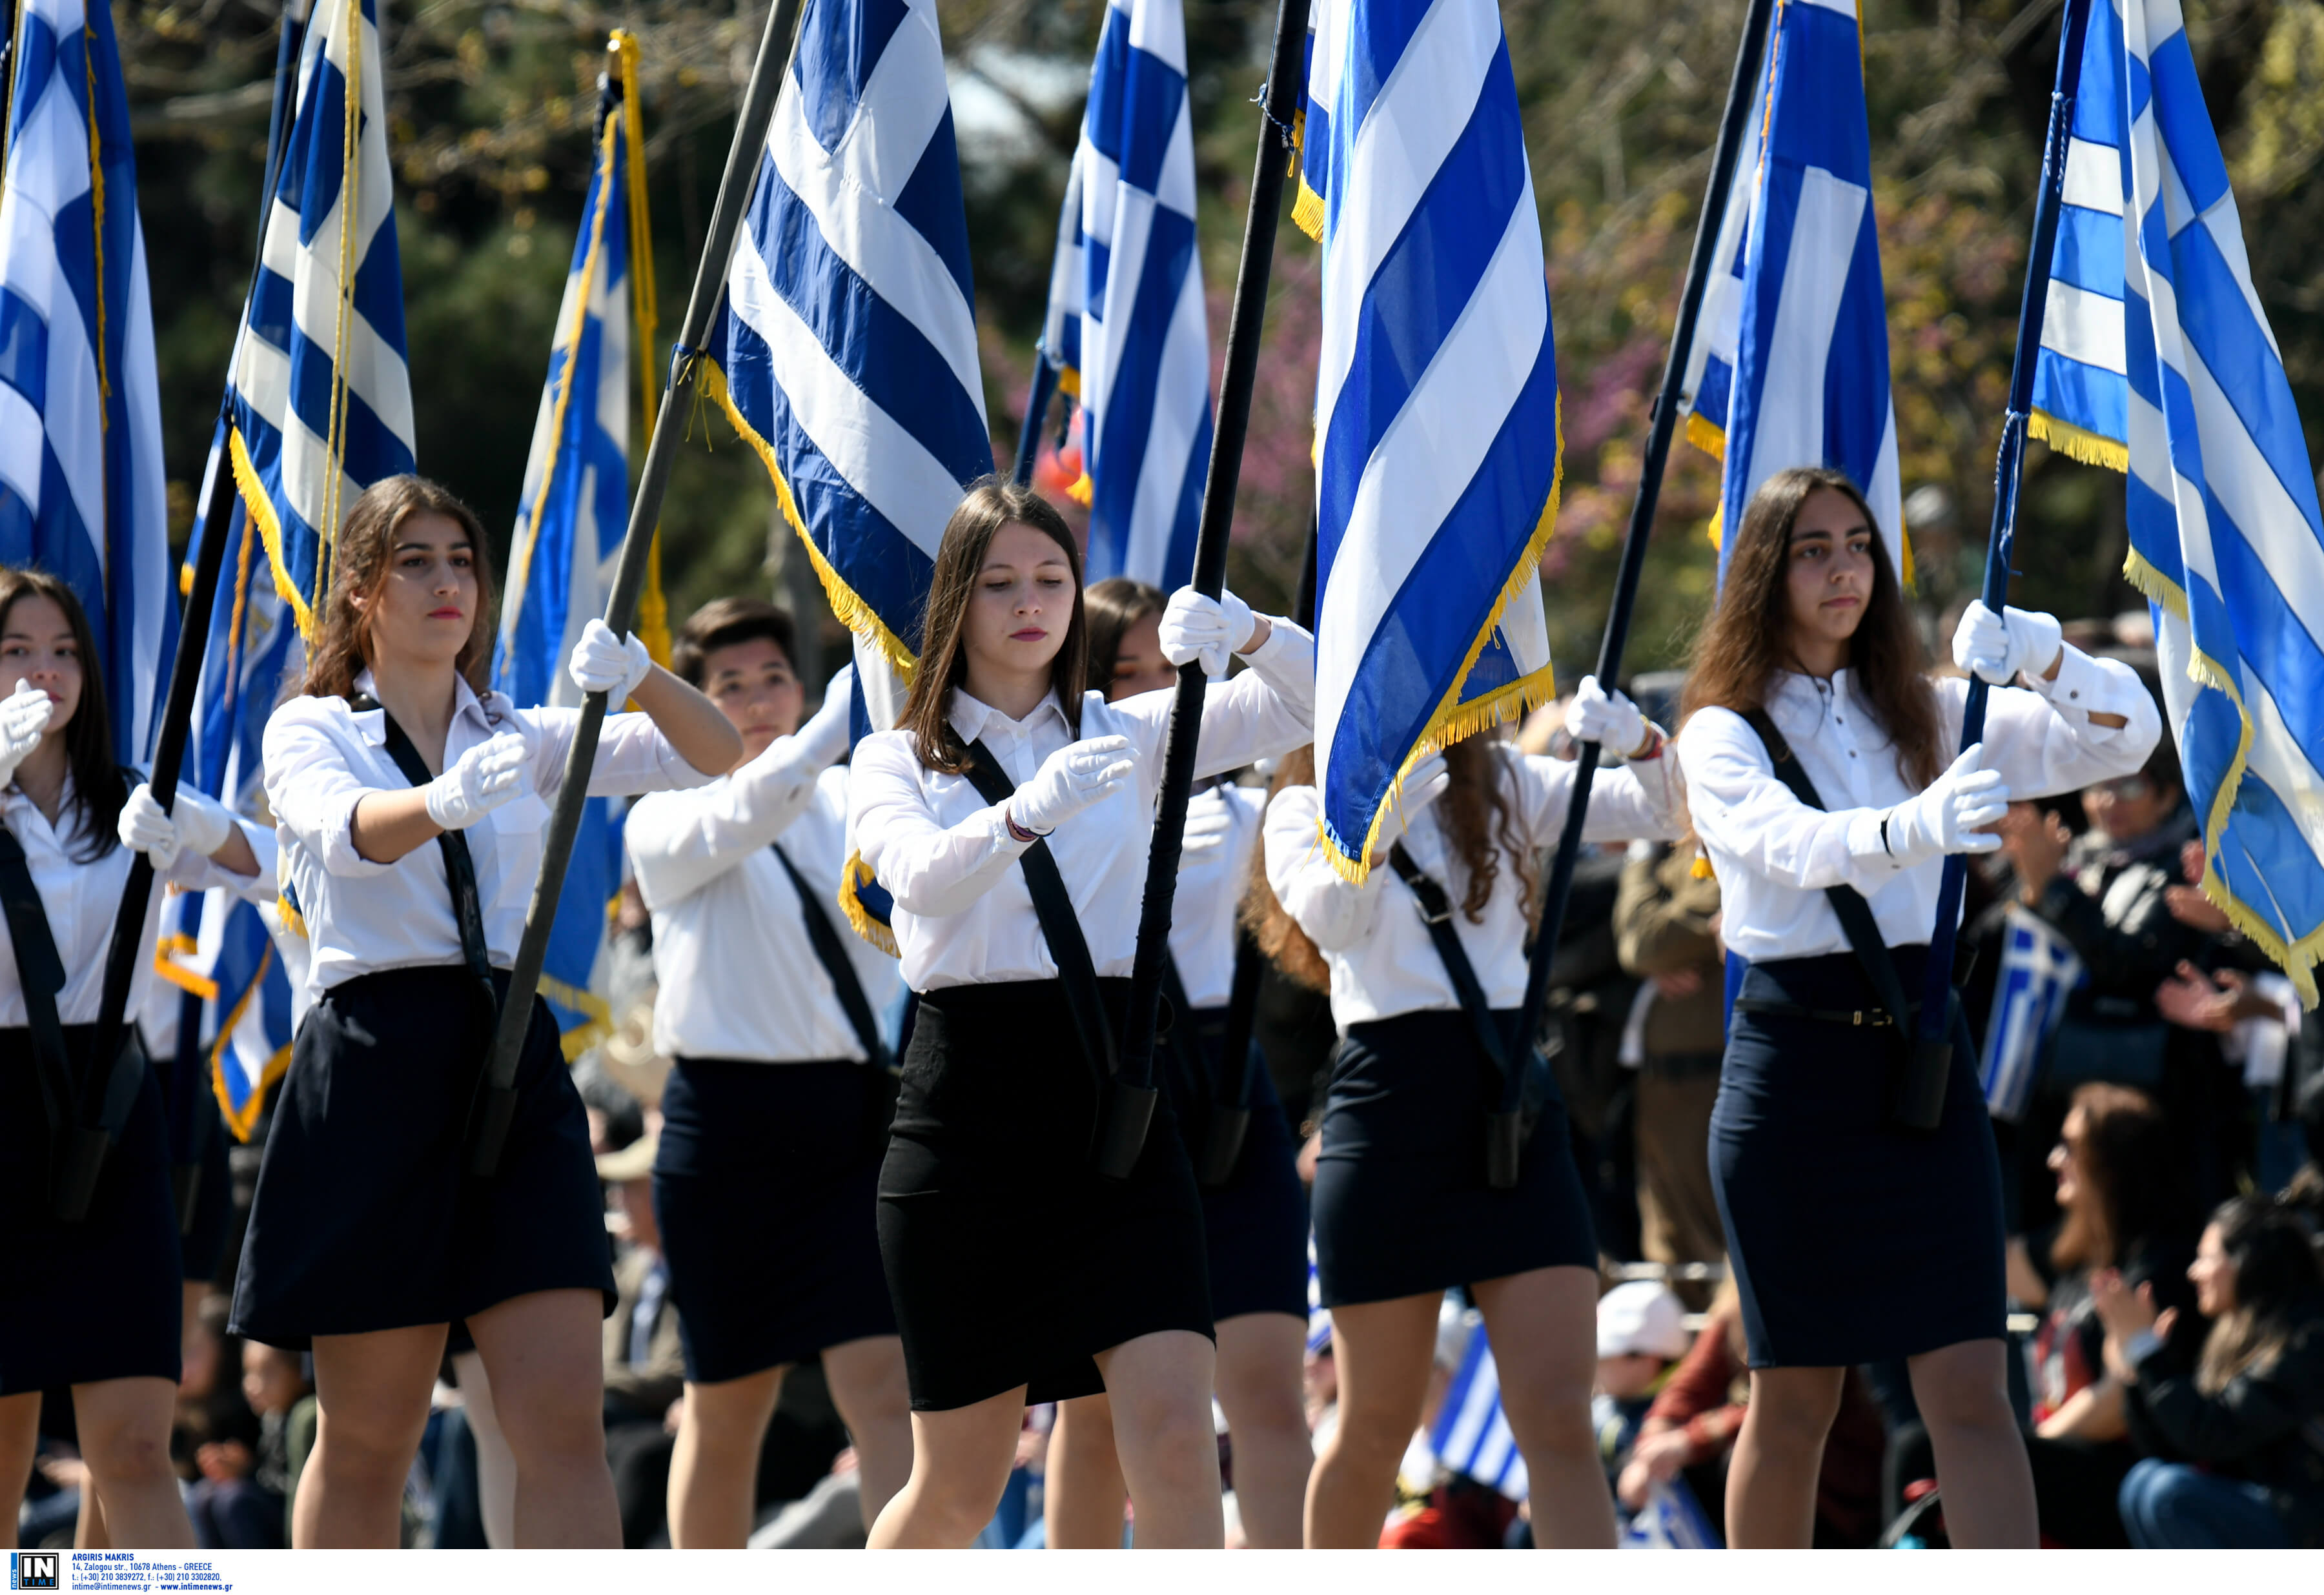
[{"label": "back-row marcher with dark pulled-back hair, raised arm covering chin", "polygon": [[895,958],[839,916],[848,698],[841,670],[806,725],[790,616],[720,598],[669,667],[741,732],[741,763],[641,798],[623,828],[653,911],[662,1093],[653,1207],[686,1339],[669,1544],[751,1535],[758,1453],[783,1374],[823,1353],[862,1465],[865,1528],[911,1472],[904,1346],[878,1263],[888,1151],[876,1014]]}]

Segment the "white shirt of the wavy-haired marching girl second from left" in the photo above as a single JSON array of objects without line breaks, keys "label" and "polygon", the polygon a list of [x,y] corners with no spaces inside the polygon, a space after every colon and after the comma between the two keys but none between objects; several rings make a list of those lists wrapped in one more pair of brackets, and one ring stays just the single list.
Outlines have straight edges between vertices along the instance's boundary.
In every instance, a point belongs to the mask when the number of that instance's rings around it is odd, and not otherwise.
[{"label": "white shirt of the wavy-haired marching girl second from left", "polygon": [[[356,677],[356,691],[372,691],[372,672]],[[530,791],[460,832],[476,860],[483,942],[493,965],[504,970],[516,963],[525,935],[541,830],[565,781],[565,753],[581,711],[518,709],[504,693],[476,698],[465,679],[453,691],[446,770],[500,730],[521,730],[532,749]],[[367,793],[411,788],[388,758],[386,718],[386,709],[356,714],[344,698],[293,698],[267,721],[267,807],[281,835],[281,874],[307,921],[309,1000],[358,974],[462,963],[444,849],[428,839],[393,865],[356,851],[356,804]],[[704,781],[709,777],[688,765],[648,716],[604,718],[590,798]]]}]

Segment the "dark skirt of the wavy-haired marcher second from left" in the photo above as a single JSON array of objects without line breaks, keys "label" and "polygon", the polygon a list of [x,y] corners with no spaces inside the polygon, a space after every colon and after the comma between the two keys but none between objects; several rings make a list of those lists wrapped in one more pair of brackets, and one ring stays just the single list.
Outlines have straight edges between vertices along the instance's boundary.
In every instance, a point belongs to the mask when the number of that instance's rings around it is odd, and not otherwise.
[{"label": "dark skirt of the wavy-haired marcher second from left", "polygon": [[[507,972],[497,972],[507,993]],[[360,974],[297,1030],[258,1163],[235,1335],[307,1351],[316,1335],[456,1323],[535,1290],[614,1311],[604,1195],[548,1004],[535,997],[500,1172],[467,1172],[490,1035],[467,970]]]}]

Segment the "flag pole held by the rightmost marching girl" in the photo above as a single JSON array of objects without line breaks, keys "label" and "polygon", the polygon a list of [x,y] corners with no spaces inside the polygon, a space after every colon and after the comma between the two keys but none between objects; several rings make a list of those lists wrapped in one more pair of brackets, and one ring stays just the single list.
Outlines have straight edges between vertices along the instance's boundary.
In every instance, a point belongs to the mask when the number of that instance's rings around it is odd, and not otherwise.
[{"label": "flag pole held by the rightmost marching girl", "polygon": [[[2050,253],[2066,191],[2066,144],[2073,137],[2073,98],[2082,86],[2082,37],[2089,0],[2066,0],[2057,37],[2057,81],[2050,91],[2050,130],[2040,153],[2040,195],[2033,202],[2033,253],[2027,288],[2017,302],[2017,353],[2010,365],[2010,407],[2001,416],[2001,449],[1994,460],[1994,530],[1985,544],[1985,605],[1996,614],[2010,602],[2010,558],[2017,549],[2017,484],[2024,477],[2027,421],[2033,414],[2033,365],[2040,353],[2043,309],[2050,302]],[[1971,672],[1968,704],[1961,709],[1961,751],[1985,739],[1985,700],[1992,686]],[[1920,993],[1920,1025],[1913,1065],[1896,1095],[1896,1118],[1934,1130],[1945,1114],[1945,1077],[1952,1070],[1952,953],[1961,935],[1961,893],[1968,886],[1968,853],[1948,853],[1936,891],[1936,928],[1929,932],[1929,970]]]}]

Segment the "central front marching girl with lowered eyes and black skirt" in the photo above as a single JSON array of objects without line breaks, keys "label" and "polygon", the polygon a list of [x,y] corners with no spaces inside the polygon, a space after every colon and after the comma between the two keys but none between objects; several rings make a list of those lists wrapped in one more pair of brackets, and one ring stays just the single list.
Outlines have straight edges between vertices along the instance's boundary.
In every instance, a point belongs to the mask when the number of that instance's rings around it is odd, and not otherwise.
[{"label": "central front marching girl with lowered eyes and black skirt", "polygon": [[[1306,742],[1315,663],[1297,625],[1181,591],[1162,651],[1253,665],[1208,695],[1197,774]],[[848,779],[923,993],[878,1197],[913,1460],[874,1546],[969,1544],[1025,1402],[1099,1390],[1139,1542],[1222,1537],[1202,1200],[1169,1104],[1129,1179],[1092,1156],[1171,698],[1083,693],[1085,658],[1064,521],[1023,488],[971,486],[937,551],[904,723],[867,737]]]}]

